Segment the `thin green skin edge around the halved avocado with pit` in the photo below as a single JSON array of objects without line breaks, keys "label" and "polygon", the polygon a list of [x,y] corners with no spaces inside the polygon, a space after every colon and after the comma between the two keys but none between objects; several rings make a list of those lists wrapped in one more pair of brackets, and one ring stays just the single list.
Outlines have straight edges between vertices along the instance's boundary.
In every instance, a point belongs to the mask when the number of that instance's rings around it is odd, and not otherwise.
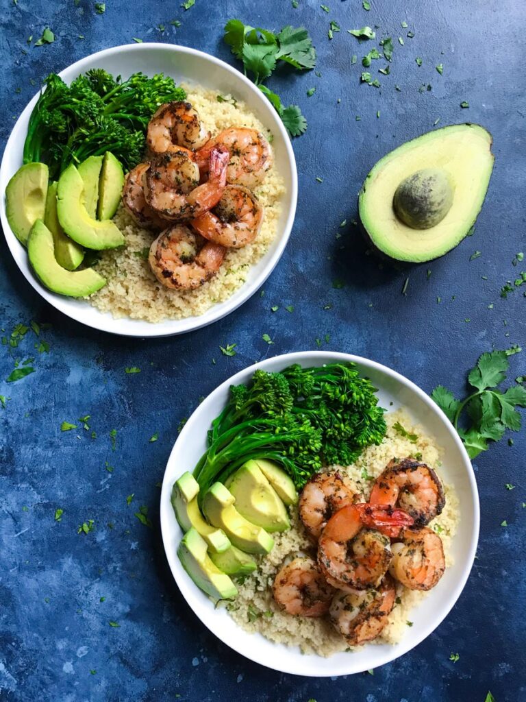
[{"label": "thin green skin edge around the halved avocado with pit", "polygon": [[[415,141],[422,139],[424,137],[427,137],[431,134],[445,133],[446,131],[450,131],[454,128],[473,128],[474,130],[482,131],[487,136],[487,150],[489,152],[490,159],[491,159],[492,165],[493,165],[494,155],[491,152],[491,147],[493,144],[492,135],[489,131],[487,131],[487,129],[485,127],[483,127],[480,124],[473,123],[473,122],[464,122],[462,124],[453,124],[453,125],[441,127],[439,129],[433,130],[431,132],[427,132],[427,133],[425,133],[417,138],[414,138],[414,139],[408,141],[407,143],[401,145],[401,147],[405,147],[407,145],[412,145]],[[401,147],[398,147],[398,148],[401,148]],[[404,263],[404,264],[424,263],[426,261],[433,260],[435,258],[440,258],[441,256],[444,256],[446,253],[448,253],[449,251],[454,249],[454,247],[457,246],[462,241],[462,239],[464,239],[468,235],[468,233],[471,231],[473,225],[476,223],[476,220],[478,218],[480,210],[483,207],[485,194],[487,192],[487,185],[484,189],[484,197],[482,197],[480,199],[480,204],[478,206],[478,209],[473,212],[473,216],[471,216],[471,218],[466,219],[466,222],[464,223],[464,225],[459,225],[459,230],[457,232],[457,236],[455,237],[454,241],[452,241],[452,243],[447,244],[441,250],[434,251],[431,254],[424,253],[424,254],[418,255],[418,256],[397,255],[391,249],[387,249],[387,247],[384,246],[383,244],[380,245],[379,242],[375,240],[375,237],[372,237],[370,231],[367,228],[367,222],[365,221],[365,219],[366,218],[369,219],[369,217],[365,216],[366,213],[364,212],[364,209],[363,209],[363,201],[365,199],[365,193],[367,192],[367,190],[370,190],[370,181],[372,180],[372,177],[375,175],[375,171],[377,170],[377,166],[379,166],[382,163],[382,161],[384,161],[384,159],[389,157],[391,155],[391,153],[392,152],[389,152],[384,157],[382,157],[382,159],[377,161],[375,166],[373,166],[371,171],[365,177],[363,185],[360,188],[360,192],[358,193],[358,225],[359,225],[359,230],[363,234],[363,237],[367,241],[367,244],[372,248],[372,251],[374,253],[376,253],[380,258],[397,260],[400,263]],[[491,171],[492,171],[492,166],[490,168],[489,175],[487,176],[487,184],[488,185],[489,185],[489,180],[490,180],[490,176],[491,176]]]}]

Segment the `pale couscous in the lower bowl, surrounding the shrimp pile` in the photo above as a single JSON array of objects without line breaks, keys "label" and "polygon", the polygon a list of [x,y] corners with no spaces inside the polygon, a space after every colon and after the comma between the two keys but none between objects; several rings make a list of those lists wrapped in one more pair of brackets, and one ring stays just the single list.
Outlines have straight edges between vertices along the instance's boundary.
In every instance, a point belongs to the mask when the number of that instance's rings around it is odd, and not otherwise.
[{"label": "pale couscous in the lower bowl, surrounding the shrimp pile", "polygon": [[[417,435],[416,442],[401,436],[393,428],[397,421],[407,432]],[[346,468],[332,467],[356,482],[365,497],[370,494],[372,479],[382,473],[395,456],[422,454],[421,460],[434,468],[440,476],[440,448],[433,437],[425,435],[422,427],[414,425],[412,419],[401,410],[386,414],[386,423],[386,438],[380,446],[369,446],[353,465]],[[445,508],[429,523],[429,527],[440,533],[446,567],[449,567],[452,564],[451,542],[459,522],[459,503],[453,486],[446,483],[443,486]],[[273,550],[261,559],[257,571],[239,585],[239,594],[234,602],[227,605],[227,609],[244,629],[252,633],[259,632],[278,643],[297,646],[306,654],[330,656],[338,651],[349,650],[349,644],[332,627],[328,618],[291,616],[281,611],[274,601],[272,583],[283,562],[295,555],[312,551],[297,508],[292,508],[291,523],[289,531],[273,535]],[[407,621],[411,620],[411,610],[417,607],[427,592],[409,590],[398,584],[397,594],[397,604],[389,615],[389,623],[375,643],[398,643],[408,630]]]}]

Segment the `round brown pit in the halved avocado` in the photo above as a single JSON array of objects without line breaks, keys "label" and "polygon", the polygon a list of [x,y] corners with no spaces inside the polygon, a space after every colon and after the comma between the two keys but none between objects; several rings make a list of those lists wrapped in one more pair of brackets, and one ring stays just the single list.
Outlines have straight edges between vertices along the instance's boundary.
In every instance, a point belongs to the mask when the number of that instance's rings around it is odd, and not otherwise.
[{"label": "round brown pit in the halved avocado", "polygon": [[454,188],[443,168],[422,168],[398,185],[393,197],[396,216],[412,229],[431,229],[453,204]]}]

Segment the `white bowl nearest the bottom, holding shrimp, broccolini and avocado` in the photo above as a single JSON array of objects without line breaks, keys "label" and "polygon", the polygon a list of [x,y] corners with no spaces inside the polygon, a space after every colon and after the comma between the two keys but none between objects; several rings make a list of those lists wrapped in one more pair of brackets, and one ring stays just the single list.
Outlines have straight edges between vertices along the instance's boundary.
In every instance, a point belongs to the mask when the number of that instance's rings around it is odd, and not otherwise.
[{"label": "white bowl nearest the bottom, holding shrimp, broccolini and avocado", "polygon": [[[337,361],[353,361],[358,364],[360,372],[378,388],[379,404],[389,408],[389,411],[404,406],[423,425],[426,432],[436,437],[444,449],[440,474],[445,482],[454,484],[457,491],[460,522],[452,543],[454,565],[445,571],[440,583],[429,592],[422,604],[412,611],[414,624],[400,643],[396,646],[370,644],[357,653],[339,653],[323,658],[303,655],[298,648],[274,644],[259,634],[250,634],[234,623],[226,609],[214,608],[213,602],[191,581],[177,557],[177,545],[182,531],[170,504],[170,493],[173,482],[185,471],[194,470],[198,459],[206,450],[206,432],[213,418],[223,409],[230,385],[247,383],[257,368],[279,371],[293,363],[308,367]],[[225,380],[208,395],[184,425],[170,453],[161,492],[164,548],[175,581],[191,609],[212,633],[234,651],[268,668],[295,675],[325,677],[363,673],[393,661],[422,642],[447,616],[466,584],[477,548],[478,527],[478,493],[473,468],[457,432],[443,411],[423,390],[399,373],[365,358],[335,352],[306,351],[276,356]]]}]

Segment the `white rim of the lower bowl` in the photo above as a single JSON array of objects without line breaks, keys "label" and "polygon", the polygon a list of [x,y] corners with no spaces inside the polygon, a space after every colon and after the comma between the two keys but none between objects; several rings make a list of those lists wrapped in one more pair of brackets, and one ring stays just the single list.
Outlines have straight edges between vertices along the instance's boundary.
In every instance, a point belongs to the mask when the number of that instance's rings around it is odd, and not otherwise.
[{"label": "white rim of the lower bowl", "polygon": [[[276,670],[279,673],[288,673],[289,675],[300,675],[304,677],[333,677],[335,675],[340,676],[340,675],[353,675],[356,673],[363,673],[365,670],[368,670],[369,668],[364,668],[364,670],[351,670],[347,673],[335,673],[333,670],[330,669],[330,663],[327,665],[324,665],[321,670],[311,670],[308,668],[307,670],[292,670],[291,668],[288,668],[286,664],[283,665],[275,665],[274,663],[266,663],[265,661],[262,661],[257,654],[252,654],[252,651],[250,649],[243,649],[241,645],[235,644],[235,642],[229,642],[225,640],[222,637],[222,634],[220,631],[217,630],[217,628],[214,628],[213,626],[210,626],[211,620],[213,618],[210,618],[210,616],[207,616],[206,613],[210,612],[209,609],[203,613],[203,616],[201,616],[201,613],[198,613],[197,611],[194,610],[194,607],[192,606],[191,602],[189,602],[189,599],[187,597],[187,592],[191,592],[191,588],[196,588],[196,585],[194,584],[193,581],[191,581],[190,578],[188,578],[188,581],[183,581],[183,583],[180,583],[177,579],[176,575],[176,570],[175,570],[175,565],[177,564],[177,553],[173,548],[170,548],[170,541],[169,541],[169,530],[170,530],[170,525],[169,522],[171,519],[175,519],[175,515],[173,515],[173,509],[171,508],[171,503],[170,503],[170,492],[172,485],[169,484],[169,473],[171,472],[170,466],[172,463],[175,462],[176,459],[176,446],[180,446],[179,442],[184,442],[187,439],[187,435],[191,432],[192,425],[194,423],[198,422],[198,414],[200,411],[202,411],[203,407],[205,404],[210,400],[213,396],[220,395],[222,392],[225,390],[228,390],[230,385],[233,385],[235,383],[243,382],[243,378],[247,378],[252,376],[254,371],[256,369],[264,369],[266,366],[270,364],[274,364],[276,362],[282,362],[283,367],[286,365],[290,365],[292,363],[297,363],[297,362],[304,362],[308,361],[309,359],[319,359],[320,357],[323,357],[327,359],[325,362],[335,362],[335,361],[351,361],[353,363],[356,363],[358,366],[360,366],[360,369],[373,369],[379,373],[384,373],[386,376],[389,376],[389,378],[398,381],[398,383],[401,383],[402,385],[407,388],[407,390],[410,390],[411,392],[414,393],[414,395],[417,395],[419,399],[421,399],[426,406],[431,409],[432,412],[440,418],[442,421],[443,425],[445,426],[447,432],[450,434],[450,436],[453,439],[454,444],[456,444],[457,449],[459,450],[459,454],[462,458],[462,465],[464,467],[464,470],[466,470],[467,477],[468,477],[468,484],[469,484],[469,489],[470,489],[470,497],[471,501],[473,503],[473,521],[471,524],[467,524],[466,528],[469,529],[471,527],[471,537],[470,537],[470,543],[469,543],[469,548],[468,548],[468,557],[466,558],[463,566],[462,566],[462,571],[461,571],[461,576],[459,577],[457,583],[455,583],[454,587],[451,588],[451,590],[448,592],[448,599],[447,599],[447,604],[445,604],[445,607],[443,609],[443,612],[440,614],[440,619],[436,621],[436,623],[433,622],[431,625],[424,625],[422,627],[422,630],[420,631],[418,637],[414,637],[412,640],[411,637],[405,637],[404,640],[400,642],[400,644],[393,645],[391,647],[391,650],[386,654],[384,657],[384,660],[382,663],[377,663],[375,664],[375,667],[379,667],[379,665],[385,665],[386,663],[390,663],[391,661],[394,661],[396,658],[399,658],[400,656],[403,656],[406,654],[408,651],[411,651],[414,649],[414,647],[417,647],[420,643],[422,643],[431,633],[433,633],[436,628],[444,621],[446,616],[450,614],[450,611],[454,607],[454,605],[457,603],[457,600],[459,599],[462,590],[464,590],[464,587],[466,585],[466,582],[468,580],[468,577],[471,573],[471,569],[473,568],[473,562],[475,560],[476,556],[476,550],[478,547],[478,537],[479,537],[479,530],[480,530],[480,501],[479,501],[479,496],[478,496],[478,489],[477,489],[477,483],[476,483],[476,476],[475,472],[473,470],[473,465],[471,464],[471,460],[468,456],[468,453],[464,447],[464,444],[461,442],[461,439],[459,435],[457,434],[457,431],[454,429],[453,425],[451,424],[450,420],[447,418],[445,413],[440,409],[440,407],[433,402],[431,397],[422,390],[422,388],[419,388],[416,383],[413,383],[412,380],[409,378],[406,378],[403,376],[401,373],[398,373],[398,371],[394,371],[393,369],[390,369],[389,366],[384,366],[384,364],[378,363],[376,361],[372,361],[371,359],[366,359],[365,357],[361,356],[356,356],[353,354],[349,354],[346,352],[338,352],[338,351],[297,351],[297,352],[288,352],[285,354],[281,354],[278,356],[273,356],[267,359],[264,359],[261,362],[256,362],[255,364],[252,364],[250,366],[246,366],[244,369],[241,369],[240,371],[234,373],[233,376],[230,378],[227,378],[227,380],[224,380],[224,382],[220,383],[220,385],[217,386],[212,392],[209,393],[207,397],[201,402],[201,404],[196,407],[194,412],[191,413],[189,416],[187,422],[185,423],[184,427],[182,428],[182,431],[180,435],[177,437],[175,440],[175,443],[173,445],[172,450],[170,451],[170,456],[168,457],[168,462],[166,463],[166,469],[163,475],[163,484],[162,484],[162,489],[161,489],[161,536],[163,539],[163,548],[166,553],[166,558],[168,560],[168,564],[170,566],[170,571],[172,573],[173,579],[175,581],[175,584],[177,585],[177,588],[179,588],[180,593],[182,597],[184,598],[185,602],[187,603],[188,607],[191,609],[191,611],[194,613],[195,616],[205,625],[205,627],[213,633],[217,638],[219,638],[224,644],[226,644],[229,648],[233,649],[236,651],[238,654],[241,654],[241,656],[244,656],[245,658],[248,658],[250,661],[253,661],[254,663],[259,663],[259,665],[263,665],[266,668],[270,668],[271,670]],[[177,449],[178,450],[178,449]],[[172,522],[173,523],[173,522]],[[210,621],[210,623],[209,623]],[[272,642],[270,642],[272,643]],[[277,644],[276,644],[277,645]],[[330,658],[323,658],[321,656],[317,656],[320,661],[330,661]]]}]

